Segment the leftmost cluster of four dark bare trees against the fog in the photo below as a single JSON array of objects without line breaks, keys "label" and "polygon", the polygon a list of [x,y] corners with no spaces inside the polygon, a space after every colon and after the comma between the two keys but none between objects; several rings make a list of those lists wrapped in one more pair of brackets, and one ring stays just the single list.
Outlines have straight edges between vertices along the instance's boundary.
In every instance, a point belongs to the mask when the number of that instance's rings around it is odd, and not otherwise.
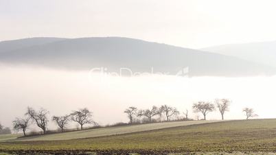
[{"label": "leftmost cluster of four dark bare trees against the fog", "polygon": [[[38,128],[41,128],[43,134],[47,132],[47,126],[49,122],[49,111],[41,108],[40,110],[34,110],[34,108],[27,107],[27,112],[25,113],[24,118],[16,118],[12,124],[15,131],[21,130],[26,136],[26,130],[34,123]],[[87,108],[82,108],[79,110],[73,110],[71,114],[64,116],[53,116],[51,120],[56,123],[58,128],[60,128],[60,132],[64,132],[65,128],[69,124],[69,121],[77,122],[80,125],[80,129],[83,129],[85,124],[96,124],[92,119],[92,112]]]}]

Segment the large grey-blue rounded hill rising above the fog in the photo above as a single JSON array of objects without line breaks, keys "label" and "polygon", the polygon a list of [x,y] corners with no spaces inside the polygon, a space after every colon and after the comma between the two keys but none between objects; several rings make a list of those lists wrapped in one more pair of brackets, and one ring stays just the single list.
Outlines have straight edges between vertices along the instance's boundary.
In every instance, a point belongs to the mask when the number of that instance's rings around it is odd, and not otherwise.
[{"label": "large grey-blue rounded hill rising above the fog", "polygon": [[[56,40],[55,40],[56,39]],[[38,41],[47,40],[47,41]],[[0,62],[34,64],[56,69],[167,72],[174,75],[189,67],[189,76],[274,75],[276,69],[217,53],[150,43],[133,38],[27,38],[0,46]],[[26,43],[24,45],[24,43]],[[20,48],[12,49],[15,45]]]}]

